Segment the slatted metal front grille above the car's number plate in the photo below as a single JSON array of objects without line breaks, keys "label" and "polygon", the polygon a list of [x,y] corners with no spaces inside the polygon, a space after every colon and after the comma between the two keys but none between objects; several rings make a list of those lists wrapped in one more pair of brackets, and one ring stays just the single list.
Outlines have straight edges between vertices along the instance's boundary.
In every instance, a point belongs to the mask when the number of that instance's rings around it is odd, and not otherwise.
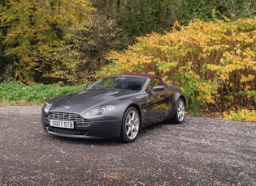
[{"label": "slatted metal front grille above the car's number plate", "polygon": [[66,112],[50,112],[45,116],[46,122],[50,120],[71,120],[75,121],[78,126],[89,126],[89,120],[83,118],[79,114],[66,113]]}]

